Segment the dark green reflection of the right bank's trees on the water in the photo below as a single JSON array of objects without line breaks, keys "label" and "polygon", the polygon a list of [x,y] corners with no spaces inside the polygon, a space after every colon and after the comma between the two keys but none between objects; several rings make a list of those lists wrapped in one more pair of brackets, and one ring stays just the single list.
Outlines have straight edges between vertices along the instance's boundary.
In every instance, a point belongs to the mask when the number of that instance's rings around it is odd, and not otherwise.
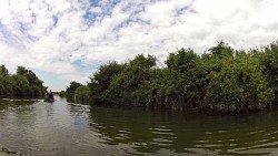
[{"label": "dark green reflection of the right bank's trees on the water", "polygon": [[276,155],[277,111],[239,115],[92,107],[91,128],[127,154]]}]

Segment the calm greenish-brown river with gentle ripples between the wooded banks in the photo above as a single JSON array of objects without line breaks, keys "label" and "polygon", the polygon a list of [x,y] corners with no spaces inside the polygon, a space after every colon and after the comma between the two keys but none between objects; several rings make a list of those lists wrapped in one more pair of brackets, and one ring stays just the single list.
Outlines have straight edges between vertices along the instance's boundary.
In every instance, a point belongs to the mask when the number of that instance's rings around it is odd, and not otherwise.
[{"label": "calm greenish-brown river with gentle ripples between the wooded banks", "polygon": [[278,155],[278,108],[212,115],[0,101],[0,145],[30,156]]}]

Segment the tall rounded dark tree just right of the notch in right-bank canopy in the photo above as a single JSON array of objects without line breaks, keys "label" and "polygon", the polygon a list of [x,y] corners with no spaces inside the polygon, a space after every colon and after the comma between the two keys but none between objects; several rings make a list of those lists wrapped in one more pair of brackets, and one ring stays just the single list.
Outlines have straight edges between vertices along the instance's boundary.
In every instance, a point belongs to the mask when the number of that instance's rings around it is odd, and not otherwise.
[{"label": "tall rounded dark tree just right of the notch in right-bank canopy", "polygon": [[178,110],[200,105],[206,87],[206,71],[200,56],[190,49],[181,49],[170,53],[166,64],[170,74],[165,87],[166,105]]}]

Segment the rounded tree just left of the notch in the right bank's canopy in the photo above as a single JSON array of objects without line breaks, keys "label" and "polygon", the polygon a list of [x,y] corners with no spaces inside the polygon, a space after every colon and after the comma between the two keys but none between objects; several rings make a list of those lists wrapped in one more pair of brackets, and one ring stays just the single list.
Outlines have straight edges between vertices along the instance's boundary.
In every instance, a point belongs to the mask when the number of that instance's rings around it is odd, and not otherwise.
[{"label": "rounded tree just left of the notch in the right bank's canopy", "polygon": [[145,106],[145,83],[151,77],[156,59],[151,55],[137,55],[130,60],[120,74],[112,77],[103,94],[106,103]]}]

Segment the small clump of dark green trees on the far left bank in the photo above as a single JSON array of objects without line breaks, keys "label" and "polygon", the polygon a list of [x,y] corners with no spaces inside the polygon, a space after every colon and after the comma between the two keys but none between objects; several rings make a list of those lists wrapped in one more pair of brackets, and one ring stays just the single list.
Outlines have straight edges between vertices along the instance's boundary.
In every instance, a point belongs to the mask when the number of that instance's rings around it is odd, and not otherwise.
[{"label": "small clump of dark green trees on the far left bank", "polygon": [[16,74],[10,74],[0,65],[0,96],[41,96],[44,94],[42,81],[24,66],[18,66]]}]

